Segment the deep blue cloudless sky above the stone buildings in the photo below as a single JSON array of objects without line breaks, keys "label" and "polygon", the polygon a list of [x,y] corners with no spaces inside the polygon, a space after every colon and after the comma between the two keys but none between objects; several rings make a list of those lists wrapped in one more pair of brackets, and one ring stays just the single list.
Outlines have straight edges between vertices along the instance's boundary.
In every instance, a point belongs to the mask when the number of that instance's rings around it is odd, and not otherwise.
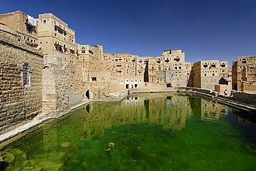
[{"label": "deep blue cloudless sky above the stone buildings", "polygon": [[161,56],[182,48],[185,61],[232,61],[256,55],[255,0],[1,1],[0,13],[53,13],[76,42],[104,52]]}]

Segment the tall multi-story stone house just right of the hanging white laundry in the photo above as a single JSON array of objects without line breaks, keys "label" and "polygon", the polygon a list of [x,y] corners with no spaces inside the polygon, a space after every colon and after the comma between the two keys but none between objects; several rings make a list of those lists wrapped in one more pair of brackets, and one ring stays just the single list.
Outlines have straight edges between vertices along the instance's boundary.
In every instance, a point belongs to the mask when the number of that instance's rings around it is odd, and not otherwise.
[{"label": "tall multi-story stone house just right of the hanging white laundry", "polygon": [[75,31],[55,15],[39,14],[38,41],[44,54],[62,54],[66,63],[77,64]]}]

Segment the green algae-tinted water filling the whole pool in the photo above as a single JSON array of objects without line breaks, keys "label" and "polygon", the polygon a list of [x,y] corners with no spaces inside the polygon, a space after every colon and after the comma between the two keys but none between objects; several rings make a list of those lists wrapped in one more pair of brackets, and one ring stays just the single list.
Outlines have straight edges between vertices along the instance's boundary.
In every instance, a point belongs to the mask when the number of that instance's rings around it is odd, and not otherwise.
[{"label": "green algae-tinted water filling the whole pool", "polygon": [[0,166],[1,170],[256,170],[255,122],[250,112],[198,95],[134,94],[120,103],[90,103],[47,121],[2,148],[0,154],[9,163],[0,158]]}]

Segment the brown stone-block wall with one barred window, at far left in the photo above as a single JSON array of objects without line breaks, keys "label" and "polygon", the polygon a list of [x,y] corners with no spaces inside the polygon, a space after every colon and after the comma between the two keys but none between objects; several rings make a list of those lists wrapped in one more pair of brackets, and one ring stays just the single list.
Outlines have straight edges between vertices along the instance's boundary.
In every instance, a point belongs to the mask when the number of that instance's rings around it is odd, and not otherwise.
[{"label": "brown stone-block wall with one barred window, at far left", "polygon": [[[42,111],[43,56],[0,28],[0,134]],[[24,85],[24,63],[28,82]]]}]

